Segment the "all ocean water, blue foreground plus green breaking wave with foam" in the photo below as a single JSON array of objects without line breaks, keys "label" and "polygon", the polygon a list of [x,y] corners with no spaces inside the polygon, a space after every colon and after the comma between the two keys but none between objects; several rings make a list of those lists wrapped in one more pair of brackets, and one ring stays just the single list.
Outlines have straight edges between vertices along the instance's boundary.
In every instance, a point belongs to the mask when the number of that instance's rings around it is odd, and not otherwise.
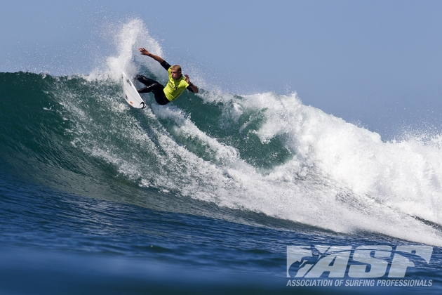
[{"label": "all ocean water, blue foreground plus green breaking wave with foam", "polygon": [[[296,93],[223,93],[198,75],[199,94],[135,110],[120,73],[165,81],[137,51],[161,46],[140,20],[115,42],[86,75],[0,73],[1,294],[441,293],[441,136],[382,140]],[[413,284],[379,251],[384,275],[349,275],[375,268],[357,247],[399,245],[432,249],[429,263],[401,252]],[[352,250],[342,277],[336,258],[298,280],[291,246]]]}]

